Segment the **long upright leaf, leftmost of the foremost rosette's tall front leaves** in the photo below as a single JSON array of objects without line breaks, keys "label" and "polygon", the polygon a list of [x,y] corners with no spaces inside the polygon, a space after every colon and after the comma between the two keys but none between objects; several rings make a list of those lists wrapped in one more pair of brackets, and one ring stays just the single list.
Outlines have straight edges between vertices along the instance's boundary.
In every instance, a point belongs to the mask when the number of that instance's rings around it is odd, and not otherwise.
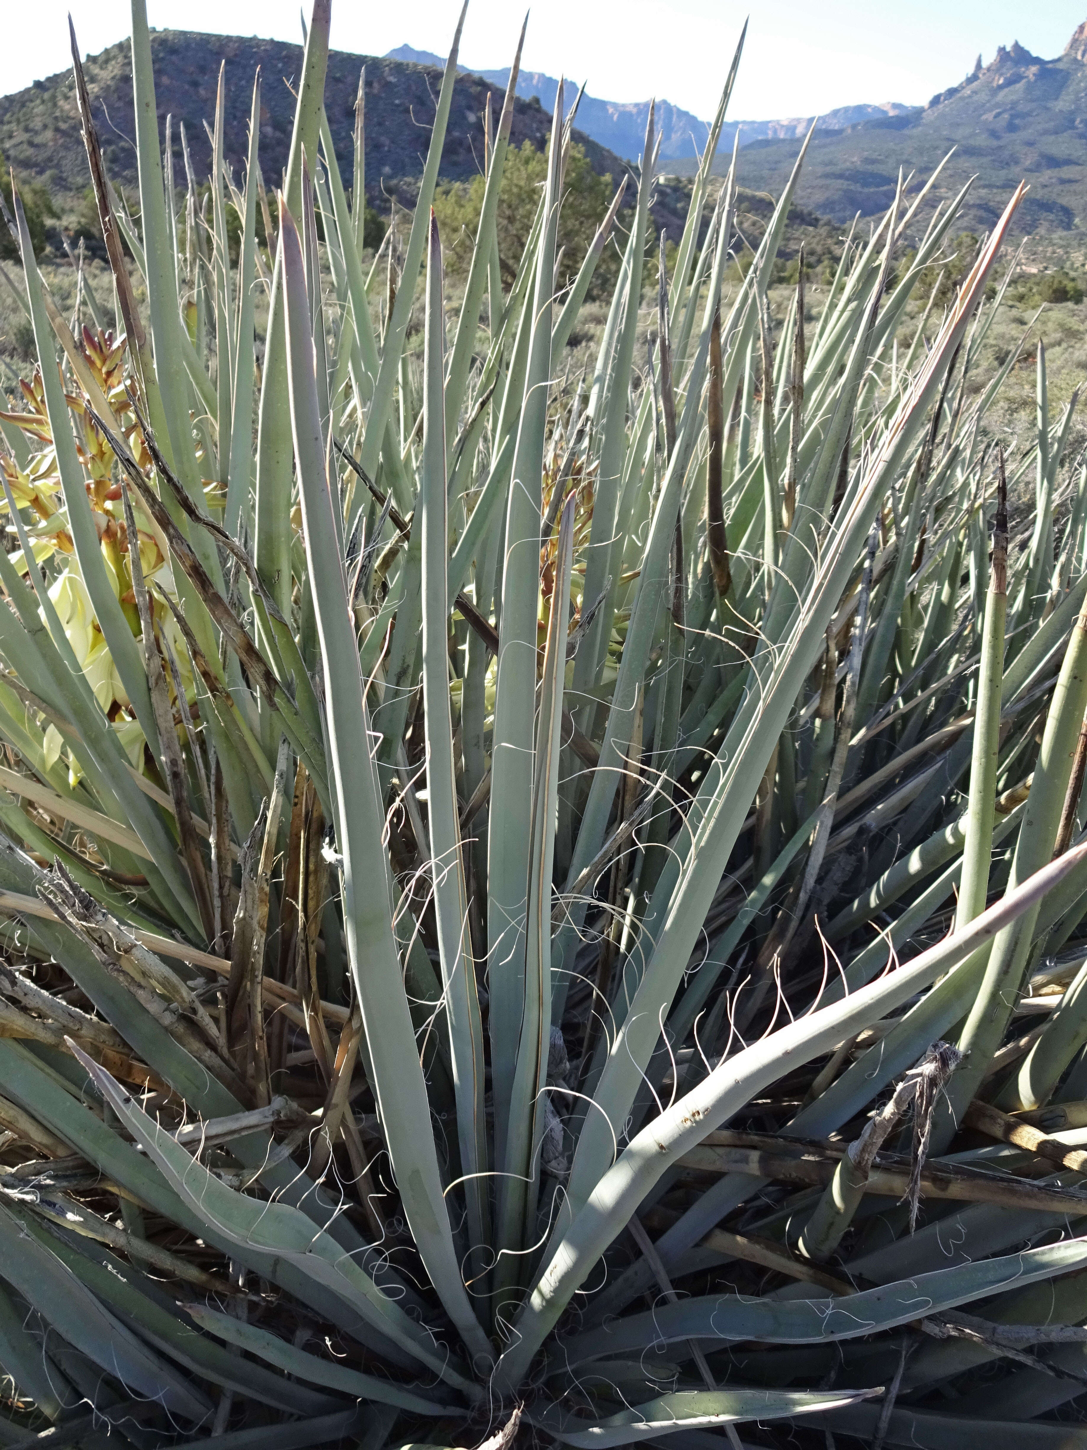
[{"label": "long upright leaf, leftmost of the foremost rosette's tall front leaves", "polygon": [[393,932],[384,812],[358,645],[348,608],[343,560],[336,547],[333,500],[325,461],[313,373],[313,336],[297,229],[281,206],[280,265],[286,306],[291,426],[299,463],[306,558],[325,674],[336,835],[343,856],[343,929],[404,1212],[446,1312],[472,1356],[491,1351],[461,1279],[415,1028],[403,992]]}]

